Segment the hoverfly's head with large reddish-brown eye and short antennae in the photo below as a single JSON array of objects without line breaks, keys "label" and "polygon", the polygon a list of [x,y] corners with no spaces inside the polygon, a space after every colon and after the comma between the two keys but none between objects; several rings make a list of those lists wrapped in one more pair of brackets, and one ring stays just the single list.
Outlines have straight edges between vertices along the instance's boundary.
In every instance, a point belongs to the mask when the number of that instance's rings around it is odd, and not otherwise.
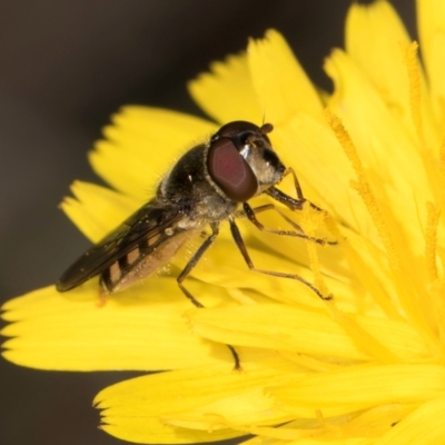
[{"label": "hoverfly's head with large reddish-brown eye and short antennae", "polygon": [[229,199],[245,202],[281,180],[286,168],[267,136],[273,129],[238,120],[211,137],[207,170]]}]

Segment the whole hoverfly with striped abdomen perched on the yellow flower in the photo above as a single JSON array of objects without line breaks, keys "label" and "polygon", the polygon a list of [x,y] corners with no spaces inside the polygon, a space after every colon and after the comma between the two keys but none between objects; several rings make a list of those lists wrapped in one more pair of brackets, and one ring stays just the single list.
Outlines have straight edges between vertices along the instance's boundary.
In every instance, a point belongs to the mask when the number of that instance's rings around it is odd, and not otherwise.
[{"label": "whole hoverfly with striped abdomen perched on the yellow flower", "polygon": [[[257,127],[247,121],[233,121],[222,126],[207,144],[189,149],[160,181],[155,198],[87,250],[60,277],[57,289],[67,291],[100,275],[102,295],[122,290],[168,263],[188,239],[209,226],[211,235],[207,236],[177,277],[185,296],[196,307],[202,307],[184,286],[184,280],[214,244],[220,222],[227,220],[249,269],[296,279],[320,298],[330,298],[298,275],[257,269],[236,224],[236,218],[247,217],[260,230],[326,244],[324,239],[305,235],[296,224],[295,230],[264,227],[256,214],[275,208],[274,205],[253,208],[248,204],[249,199],[261,194],[291,210],[300,210],[306,201],[296,175],[283,165],[274,151],[267,136],[270,131],[270,123]],[[275,187],[287,174],[293,175],[296,199]],[[290,222],[284,214],[280,215]],[[239,368],[236,350],[230,345],[228,347],[236,368]]]}]

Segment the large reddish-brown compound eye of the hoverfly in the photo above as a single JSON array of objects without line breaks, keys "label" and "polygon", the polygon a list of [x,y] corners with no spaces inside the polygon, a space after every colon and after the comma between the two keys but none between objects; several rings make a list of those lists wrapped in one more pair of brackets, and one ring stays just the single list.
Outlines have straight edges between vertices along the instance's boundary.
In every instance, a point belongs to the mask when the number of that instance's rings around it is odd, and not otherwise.
[{"label": "large reddish-brown compound eye of the hoverfly", "polygon": [[258,190],[254,171],[228,138],[211,142],[207,168],[216,185],[236,202],[247,201]]}]

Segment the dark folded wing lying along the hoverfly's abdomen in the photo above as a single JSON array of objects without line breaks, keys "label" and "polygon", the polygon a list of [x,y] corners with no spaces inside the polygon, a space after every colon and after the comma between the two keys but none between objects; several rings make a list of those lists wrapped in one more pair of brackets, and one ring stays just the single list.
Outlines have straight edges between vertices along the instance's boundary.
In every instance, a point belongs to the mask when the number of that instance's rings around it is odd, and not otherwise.
[{"label": "dark folded wing lying along the hoverfly's abdomen", "polygon": [[[99,244],[87,250],[56,284],[57,290],[70,290],[101,274],[123,255],[140,244],[150,246],[150,239],[175,226],[184,216],[180,206],[152,200],[132,214]],[[148,243],[147,243],[148,241]],[[154,247],[157,244],[154,243]],[[149,253],[148,253],[149,254]]]}]

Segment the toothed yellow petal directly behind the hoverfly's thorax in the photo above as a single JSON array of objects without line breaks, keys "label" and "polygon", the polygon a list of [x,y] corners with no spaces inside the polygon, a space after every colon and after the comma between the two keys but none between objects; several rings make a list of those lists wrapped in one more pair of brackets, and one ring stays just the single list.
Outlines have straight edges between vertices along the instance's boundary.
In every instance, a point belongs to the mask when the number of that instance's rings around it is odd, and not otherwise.
[{"label": "toothed yellow petal directly behind the hoverfly's thorax", "polygon": [[90,152],[90,162],[108,184],[140,202],[154,196],[180,155],[216,128],[190,115],[148,107],[126,107],[112,122],[105,129],[107,139]]}]

